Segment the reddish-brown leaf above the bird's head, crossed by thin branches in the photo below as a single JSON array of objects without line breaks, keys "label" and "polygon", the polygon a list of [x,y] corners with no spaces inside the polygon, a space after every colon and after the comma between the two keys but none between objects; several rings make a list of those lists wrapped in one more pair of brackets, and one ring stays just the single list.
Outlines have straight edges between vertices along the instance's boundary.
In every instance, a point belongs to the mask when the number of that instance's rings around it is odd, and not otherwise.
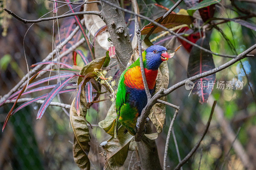
[{"label": "reddish-brown leaf above the bird's head, crossed by thin branches", "polygon": [[[155,21],[158,22],[162,17],[163,16],[155,19]],[[192,22],[193,22],[193,18],[191,16],[170,13],[166,18],[164,18],[164,20],[160,24],[165,26],[166,28],[171,28],[173,26],[178,26],[181,24],[190,25]],[[147,34],[153,26],[154,26],[153,23],[149,23],[148,25],[144,26],[140,31],[141,35]],[[153,33],[159,33],[163,30],[164,29],[161,27],[156,27]]]}]

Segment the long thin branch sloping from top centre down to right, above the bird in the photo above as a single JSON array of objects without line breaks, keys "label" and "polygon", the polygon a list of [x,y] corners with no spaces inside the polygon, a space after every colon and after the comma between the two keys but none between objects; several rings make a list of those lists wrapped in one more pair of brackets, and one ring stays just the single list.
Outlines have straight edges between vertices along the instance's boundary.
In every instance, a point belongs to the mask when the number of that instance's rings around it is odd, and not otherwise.
[{"label": "long thin branch sloping from top centre down to right, above the bird", "polygon": [[222,57],[228,57],[228,58],[235,58],[235,57],[236,57],[236,55],[226,55],[226,54],[218,54],[218,53],[212,52],[211,50],[205,49],[205,48],[203,48],[203,47],[201,47],[201,46],[199,46],[199,45],[197,45],[197,44],[195,44],[195,43],[193,43],[193,42],[187,40],[186,38],[180,36],[178,33],[175,33],[175,32],[173,32],[173,31],[170,31],[170,30],[169,30],[168,28],[166,28],[165,26],[162,26],[161,24],[157,23],[156,21],[154,21],[154,20],[152,20],[152,19],[150,19],[150,18],[148,18],[148,17],[145,17],[145,16],[140,15],[140,14],[136,14],[136,13],[133,12],[133,11],[124,9],[124,8],[122,8],[122,7],[120,7],[120,6],[117,6],[116,4],[113,4],[113,3],[109,2],[109,1],[107,1],[107,0],[100,0],[100,1],[102,1],[102,2],[104,2],[104,3],[106,3],[106,4],[109,4],[110,6],[116,7],[117,9],[120,9],[120,10],[122,10],[122,11],[124,11],[124,12],[130,13],[130,14],[133,14],[133,15],[136,15],[136,16],[142,18],[142,19],[146,19],[146,20],[152,22],[153,24],[155,24],[155,25],[157,25],[157,26],[163,28],[165,31],[168,31],[168,32],[171,33],[172,35],[175,35],[176,37],[179,37],[179,39],[181,39],[181,40],[183,40],[183,41],[186,41],[187,43],[189,43],[189,44],[195,46],[196,48],[200,48],[201,50],[203,50],[203,51],[205,51],[205,52],[207,52],[207,53],[211,53],[211,54],[214,54],[214,55],[219,55],[219,56],[222,56]]}]

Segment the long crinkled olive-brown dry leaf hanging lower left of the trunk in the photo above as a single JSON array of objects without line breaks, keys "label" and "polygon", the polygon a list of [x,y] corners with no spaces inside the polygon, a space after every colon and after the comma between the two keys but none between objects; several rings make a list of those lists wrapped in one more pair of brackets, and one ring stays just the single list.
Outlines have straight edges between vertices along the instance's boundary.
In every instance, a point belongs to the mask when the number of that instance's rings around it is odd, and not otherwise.
[{"label": "long crinkled olive-brown dry leaf hanging lower left of the trunk", "polygon": [[[88,152],[90,151],[90,132],[85,121],[86,107],[82,109],[80,105],[80,116],[76,114],[75,99],[73,100],[69,118],[72,129],[74,131],[73,157],[76,165],[81,169],[90,169],[90,160],[88,159]],[[85,111],[85,112],[84,112]]]}]

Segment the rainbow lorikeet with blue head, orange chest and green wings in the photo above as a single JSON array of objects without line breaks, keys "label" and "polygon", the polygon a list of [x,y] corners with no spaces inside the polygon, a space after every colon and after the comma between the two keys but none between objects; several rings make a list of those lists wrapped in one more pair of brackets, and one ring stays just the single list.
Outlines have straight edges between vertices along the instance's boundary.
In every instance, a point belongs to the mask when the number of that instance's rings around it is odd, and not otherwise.
[{"label": "rainbow lorikeet with blue head, orange chest and green wings", "polygon": [[[143,66],[150,94],[156,90],[156,76],[160,64],[168,60],[166,48],[159,45],[148,47],[143,53]],[[116,94],[116,131],[118,121],[131,135],[135,135],[134,127],[142,109],[147,104],[139,58],[121,74]],[[124,132],[125,133],[125,132]]]}]

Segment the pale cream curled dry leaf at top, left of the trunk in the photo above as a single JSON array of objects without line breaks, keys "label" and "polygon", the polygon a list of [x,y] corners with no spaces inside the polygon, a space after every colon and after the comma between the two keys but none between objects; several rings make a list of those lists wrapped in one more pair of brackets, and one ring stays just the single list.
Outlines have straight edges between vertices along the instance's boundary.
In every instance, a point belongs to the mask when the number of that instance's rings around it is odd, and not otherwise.
[{"label": "pale cream curled dry leaf at top, left of the trunk", "polygon": [[[87,2],[90,1],[93,0],[88,0]],[[84,11],[99,11],[99,8],[97,3],[84,4]],[[110,34],[108,32],[98,34],[98,31],[106,26],[105,22],[98,15],[84,15],[84,24],[99,45],[105,50],[108,50],[110,46],[108,37],[110,37]]]}]

